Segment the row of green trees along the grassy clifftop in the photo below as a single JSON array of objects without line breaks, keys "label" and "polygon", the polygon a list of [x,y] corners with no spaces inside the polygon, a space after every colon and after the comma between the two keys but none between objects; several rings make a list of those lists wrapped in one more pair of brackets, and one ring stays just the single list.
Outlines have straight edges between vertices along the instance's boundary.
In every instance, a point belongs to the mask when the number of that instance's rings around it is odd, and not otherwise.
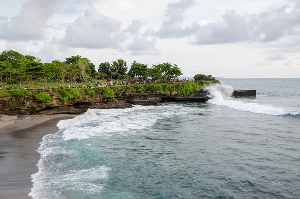
[{"label": "row of green trees along the grassy clifftop", "polygon": [[176,64],[169,62],[148,67],[147,64],[133,61],[128,69],[127,62],[123,59],[100,63],[96,71],[91,60],[81,55],[67,57],[64,61],[42,63],[35,56],[22,55],[14,50],[0,52],[0,82],[6,81],[10,87],[20,81],[27,85],[32,83],[33,86],[33,81],[37,83],[41,80],[47,86],[48,81],[53,79],[59,87],[65,80],[74,84],[78,81],[87,83],[91,78],[110,80],[152,77],[156,80],[170,80],[183,74]]}]

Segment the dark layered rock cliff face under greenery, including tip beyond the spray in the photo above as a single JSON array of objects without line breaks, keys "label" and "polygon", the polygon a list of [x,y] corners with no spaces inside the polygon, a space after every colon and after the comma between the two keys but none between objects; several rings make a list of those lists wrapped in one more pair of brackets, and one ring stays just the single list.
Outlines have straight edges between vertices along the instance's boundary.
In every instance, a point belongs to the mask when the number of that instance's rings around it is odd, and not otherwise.
[{"label": "dark layered rock cliff face under greenery, including tip beyond the spray", "polygon": [[[255,90],[254,90],[255,91]],[[234,91],[232,97],[256,97],[256,91]],[[161,102],[207,102],[211,97],[204,89],[198,89],[193,95],[182,97],[177,93],[157,94],[146,93],[141,96],[138,93],[115,95],[114,98],[106,98],[101,94],[92,97],[82,94],[82,99],[69,99],[63,102],[59,92],[50,93],[54,100],[49,103],[40,103],[34,96],[5,96],[0,97],[0,114],[81,114],[89,108],[131,108],[133,105],[159,105]],[[15,98],[13,102],[12,98]]]}]

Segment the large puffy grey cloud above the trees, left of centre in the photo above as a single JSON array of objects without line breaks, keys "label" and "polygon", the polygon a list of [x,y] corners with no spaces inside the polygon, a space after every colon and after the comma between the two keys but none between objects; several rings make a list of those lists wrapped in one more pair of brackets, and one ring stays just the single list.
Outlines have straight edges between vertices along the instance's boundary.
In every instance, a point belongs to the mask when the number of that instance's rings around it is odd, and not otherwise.
[{"label": "large puffy grey cloud above the trees, left of centre", "polygon": [[119,20],[104,16],[92,7],[67,27],[62,42],[73,48],[117,49],[124,40],[120,33]]}]

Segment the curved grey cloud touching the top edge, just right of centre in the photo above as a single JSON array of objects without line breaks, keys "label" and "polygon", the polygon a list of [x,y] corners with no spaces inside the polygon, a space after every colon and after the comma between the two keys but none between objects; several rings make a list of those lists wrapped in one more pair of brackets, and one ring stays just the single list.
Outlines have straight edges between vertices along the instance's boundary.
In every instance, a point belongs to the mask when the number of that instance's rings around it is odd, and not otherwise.
[{"label": "curved grey cloud touching the top edge, just right of centre", "polygon": [[154,35],[159,38],[180,38],[196,33],[199,29],[197,23],[193,23],[190,27],[182,28],[181,26],[186,10],[196,5],[197,3],[193,0],[180,0],[169,3],[165,10],[167,19],[163,21],[162,26]]}]

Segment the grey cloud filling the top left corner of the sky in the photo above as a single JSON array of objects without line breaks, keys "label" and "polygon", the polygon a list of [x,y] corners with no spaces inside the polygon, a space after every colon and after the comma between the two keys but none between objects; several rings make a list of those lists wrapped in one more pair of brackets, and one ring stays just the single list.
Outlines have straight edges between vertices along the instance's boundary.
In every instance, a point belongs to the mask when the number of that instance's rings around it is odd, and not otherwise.
[{"label": "grey cloud filling the top left corner of the sky", "polygon": [[19,15],[0,23],[0,37],[9,41],[42,40],[43,28],[55,11],[58,0],[29,0]]}]

